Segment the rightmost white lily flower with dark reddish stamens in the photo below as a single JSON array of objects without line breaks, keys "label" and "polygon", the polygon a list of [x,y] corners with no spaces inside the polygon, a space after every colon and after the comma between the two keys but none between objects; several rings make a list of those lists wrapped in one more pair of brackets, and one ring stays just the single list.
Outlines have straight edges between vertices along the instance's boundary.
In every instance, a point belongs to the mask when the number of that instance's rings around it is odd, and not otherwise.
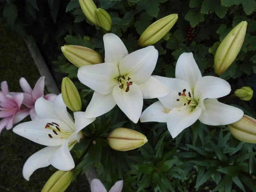
[{"label": "rightmost white lily flower with dark reddish stamens", "polygon": [[150,105],[141,114],[141,122],[167,122],[172,138],[199,119],[206,125],[228,125],[243,117],[239,108],[215,98],[230,93],[230,84],[214,76],[202,77],[192,53],[178,58],[175,78],[154,76],[166,84],[170,93]]}]

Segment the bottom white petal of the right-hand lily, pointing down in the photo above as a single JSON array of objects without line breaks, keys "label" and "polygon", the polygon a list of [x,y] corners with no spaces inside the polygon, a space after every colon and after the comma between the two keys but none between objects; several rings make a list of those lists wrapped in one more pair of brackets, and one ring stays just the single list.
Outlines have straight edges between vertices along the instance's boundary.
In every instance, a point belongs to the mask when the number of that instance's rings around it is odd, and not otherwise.
[{"label": "bottom white petal of the right-hand lily, pointing down", "polygon": [[167,116],[167,128],[172,138],[196,122],[201,112],[202,109],[199,107],[183,106],[172,109]]}]

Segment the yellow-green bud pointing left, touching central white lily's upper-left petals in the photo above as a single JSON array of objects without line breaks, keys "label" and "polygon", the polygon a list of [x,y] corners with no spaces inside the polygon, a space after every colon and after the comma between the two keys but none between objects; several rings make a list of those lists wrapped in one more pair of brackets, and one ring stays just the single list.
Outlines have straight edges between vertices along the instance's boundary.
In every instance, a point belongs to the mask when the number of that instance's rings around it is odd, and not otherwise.
[{"label": "yellow-green bud pointing left, touching central white lily's upper-left petals", "polygon": [[87,47],[78,45],[65,45],[61,47],[61,51],[67,60],[76,65],[76,67],[99,64],[103,62],[103,59],[99,53]]}]

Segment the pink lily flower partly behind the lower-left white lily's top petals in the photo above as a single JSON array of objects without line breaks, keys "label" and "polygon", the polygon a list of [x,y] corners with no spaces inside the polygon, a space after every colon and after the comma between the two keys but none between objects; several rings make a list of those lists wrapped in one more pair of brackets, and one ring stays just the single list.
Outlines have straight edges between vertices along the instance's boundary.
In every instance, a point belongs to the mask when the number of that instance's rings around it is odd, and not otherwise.
[{"label": "pink lily flower partly behind the lower-left white lily's top petals", "polygon": [[[30,109],[29,114],[31,120],[38,119],[38,116],[35,112],[35,101],[41,96],[44,96],[44,76],[38,79],[33,90],[30,87],[28,81],[22,77],[20,78],[20,87],[24,91],[23,105],[26,105],[26,107]],[[44,99],[53,102],[56,97],[57,95],[55,94],[48,94],[44,96]]]}]

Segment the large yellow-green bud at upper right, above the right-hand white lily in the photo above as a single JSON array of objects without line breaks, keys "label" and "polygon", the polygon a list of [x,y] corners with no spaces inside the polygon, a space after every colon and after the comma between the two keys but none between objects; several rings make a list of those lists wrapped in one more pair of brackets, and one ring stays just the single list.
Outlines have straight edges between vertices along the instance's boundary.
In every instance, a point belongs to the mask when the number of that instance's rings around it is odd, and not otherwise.
[{"label": "large yellow-green bud at upper right, above the right-hand white lily", "polygon": [[214,57],[214,71],[218,75],[224,73],[236,59],[244,42],[246,28],[247,22],[241,21],[219,45]]}]

